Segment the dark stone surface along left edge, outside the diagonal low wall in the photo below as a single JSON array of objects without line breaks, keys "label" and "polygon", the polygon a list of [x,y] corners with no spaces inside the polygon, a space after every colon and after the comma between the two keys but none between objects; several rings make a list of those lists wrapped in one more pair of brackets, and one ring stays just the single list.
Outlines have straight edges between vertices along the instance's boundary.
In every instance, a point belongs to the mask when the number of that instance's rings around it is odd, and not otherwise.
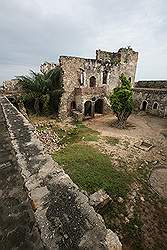
[{"label": "dark stone surface along left edge, outside the diagonal low wall", "polygon": [[44,250],[0,104],[0,249]]}]

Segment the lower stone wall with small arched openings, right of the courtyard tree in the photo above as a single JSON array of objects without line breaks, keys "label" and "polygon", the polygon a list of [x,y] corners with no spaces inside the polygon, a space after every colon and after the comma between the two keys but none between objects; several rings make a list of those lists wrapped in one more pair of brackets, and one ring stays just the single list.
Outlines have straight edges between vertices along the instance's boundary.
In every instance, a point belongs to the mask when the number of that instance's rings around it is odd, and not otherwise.
[{"label": "lower stone wall with small arched openings, right of the courtyard tree", "polygon": [[[142,110],[143,102],[146,101],[147,113],[167,117],[167,89],[134,88],[133,98],[136,110]],[[154,109],[155,103],[157,103],[156,109]]]}]

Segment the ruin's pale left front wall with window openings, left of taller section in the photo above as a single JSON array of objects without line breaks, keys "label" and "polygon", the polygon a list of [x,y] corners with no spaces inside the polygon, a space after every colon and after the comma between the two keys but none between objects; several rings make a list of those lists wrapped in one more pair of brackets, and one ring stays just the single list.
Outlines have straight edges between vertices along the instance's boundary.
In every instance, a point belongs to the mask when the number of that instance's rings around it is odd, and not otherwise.
[{"label": "ruin's pale left front wall with window openings, left of taller section", "polygon": [[[64,94],[61,99],[60,116],[66,117],[70,114],[71,102],[75,101],[77,110],[83,112],[84,103],[93,97],[104,97],[103,88],[99,88],[98,93],[92,92],[90,88],[90,78],[96,78],[96,86],[102,86],[103,66],[95,59],[84,59],[79,57],[60,57],[60,66],[63,70]],[[80,85],[81,70],[84,71],[83,86]],[[76,88],[81,89],[81,93],[76,94]]]}]

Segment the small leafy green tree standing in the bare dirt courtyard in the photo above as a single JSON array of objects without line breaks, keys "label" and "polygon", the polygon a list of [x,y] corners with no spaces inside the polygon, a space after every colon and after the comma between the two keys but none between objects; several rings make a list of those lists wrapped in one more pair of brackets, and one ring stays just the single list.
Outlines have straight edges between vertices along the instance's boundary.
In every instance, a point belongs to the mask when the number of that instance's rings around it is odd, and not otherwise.
[{"label": "small leafy green tree standing in the bare dirt courtyard", "polygon": [[117,127],[125,128],[126,121],[133,110],[132,86],[130,80],[125,76],[120,76],[121,85],[114,89],[110,96],[112,110],[118,118]]}]

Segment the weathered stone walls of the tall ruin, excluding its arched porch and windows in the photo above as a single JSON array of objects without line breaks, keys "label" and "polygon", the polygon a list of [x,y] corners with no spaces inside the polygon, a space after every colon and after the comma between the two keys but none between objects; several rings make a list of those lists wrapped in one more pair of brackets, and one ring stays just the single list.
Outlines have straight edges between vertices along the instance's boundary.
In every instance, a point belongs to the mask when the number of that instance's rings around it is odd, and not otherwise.
[{"label": "weathered stone walls of the tall ruin, excluding its arched porch and windows", "polygon": [[[120,84],[119,77],[122,73],[131,78],[132,84],[135,79],[138,53],[132,49],[120,49],[118,53],[96,51],[96,59],[79,57],[60,57],[60,66],[63,70],[64,94],[61,99],[60,116],[70,115],[70,105],[76,101],[77,110],[83,112],[84,102],[91,98],[102,98],[109,95]],[[101,88],[99,96],[93,96],[90,87],[90,78],[96,78],[96,87],[103,85],[103,73],[107,72],[107,90],[105,95]],[[83,82],[81,84],[81,73]],[[75,95],[75,88],[89,88],[90,93],[80,96]],[[100,88],[99,88],[100,91]]]}]

